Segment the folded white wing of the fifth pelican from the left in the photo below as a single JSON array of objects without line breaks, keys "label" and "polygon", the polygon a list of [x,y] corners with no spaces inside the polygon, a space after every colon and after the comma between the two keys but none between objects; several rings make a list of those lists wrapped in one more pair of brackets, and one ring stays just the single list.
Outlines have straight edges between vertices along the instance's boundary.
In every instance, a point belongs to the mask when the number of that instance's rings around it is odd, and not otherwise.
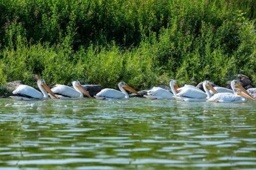
[{"label": "folded white wing of the fifth pelican from the left", "polygon": [[180,92],[177,94],[178,96],[185,96],[187,98],[196,98],[196,99],[204,99],[207,98],[207,94],[202,90],[196,87],[184,86],[179,88]]}]

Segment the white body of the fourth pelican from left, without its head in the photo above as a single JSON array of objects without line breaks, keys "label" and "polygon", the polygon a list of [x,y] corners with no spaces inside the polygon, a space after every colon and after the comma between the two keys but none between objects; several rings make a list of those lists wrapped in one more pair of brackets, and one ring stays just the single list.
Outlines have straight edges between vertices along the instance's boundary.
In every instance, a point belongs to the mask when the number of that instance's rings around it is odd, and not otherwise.
[{"label": "white body of the fourth pelican from left, without its head", "polygon": [[147,95],[144,95],[147,99],[175,99],[174,94],[161,87],[153,87],[147,91]]}]

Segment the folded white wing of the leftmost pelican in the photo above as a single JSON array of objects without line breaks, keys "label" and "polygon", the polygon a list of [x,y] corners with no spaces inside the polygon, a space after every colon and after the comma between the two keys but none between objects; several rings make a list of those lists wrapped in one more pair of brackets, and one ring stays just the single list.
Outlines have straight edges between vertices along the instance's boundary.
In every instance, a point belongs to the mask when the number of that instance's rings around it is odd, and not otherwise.
[{"label": "folded white wing of the leftmost pelican", "polygon": [[28,85],[19,85],[12,93],[30,96],[31,98],[35,99],[43,98],[42,93]]}]

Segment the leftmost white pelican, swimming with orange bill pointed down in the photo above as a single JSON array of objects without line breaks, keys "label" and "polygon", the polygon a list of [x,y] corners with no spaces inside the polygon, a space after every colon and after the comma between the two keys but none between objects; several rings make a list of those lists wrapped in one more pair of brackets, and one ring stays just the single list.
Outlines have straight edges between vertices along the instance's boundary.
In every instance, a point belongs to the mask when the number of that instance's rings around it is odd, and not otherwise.
[{"label": "leftmost white pelican, swimming with orange bill pointed down", "polygon": [[38,90],[31,86],[19,85],[12,92],[14,95],[10,96],[10,98],[19,101],[47,100],[49,99],[48,93],[50,93],[53,96],[53,98],[56,99],[56,96],[54,95],[52,90],[47,86],[44,80],[37,80],[37,86],[39,87],[42,93],[40,93]]}]

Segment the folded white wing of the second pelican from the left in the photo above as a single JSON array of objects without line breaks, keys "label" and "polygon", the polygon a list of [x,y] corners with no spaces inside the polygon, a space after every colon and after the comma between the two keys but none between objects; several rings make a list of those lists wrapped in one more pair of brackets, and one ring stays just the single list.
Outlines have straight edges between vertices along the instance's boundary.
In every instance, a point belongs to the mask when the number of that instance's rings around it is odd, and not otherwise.
[{"label": "folded white wing of the second pelican from the left", "polygon": [[78,98],[80,96],[78,91],[66,85],[56,84],[51,90],[54,94],[67,96],[69,98]]}]

